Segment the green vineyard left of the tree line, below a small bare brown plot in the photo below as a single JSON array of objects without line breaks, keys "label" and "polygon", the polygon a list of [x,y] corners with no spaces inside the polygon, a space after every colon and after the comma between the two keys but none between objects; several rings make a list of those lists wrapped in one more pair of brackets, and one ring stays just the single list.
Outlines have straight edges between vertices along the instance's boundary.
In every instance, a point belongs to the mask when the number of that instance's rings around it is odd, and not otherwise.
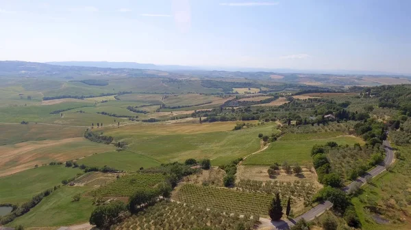
[{"label": "green vineyard left of the tree line, below a small bare brown plot", "polygon": [[129,197],[139,188],[153,188],[164,181],[164,175],[157,173],[135,173],[125,175],[114,182],[92,190],[88,195],[99,197]]}]

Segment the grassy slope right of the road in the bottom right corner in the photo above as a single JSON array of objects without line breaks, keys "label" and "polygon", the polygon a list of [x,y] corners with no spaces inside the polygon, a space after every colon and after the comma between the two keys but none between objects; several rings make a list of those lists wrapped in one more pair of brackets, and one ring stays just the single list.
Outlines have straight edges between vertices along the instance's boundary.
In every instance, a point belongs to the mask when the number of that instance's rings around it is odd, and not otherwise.
[{"label": "grassy slope right of the road in the bottom right corner", "polygon": [[[408,216],[411,212],[409,192],[411,146],[393,147],[397,147],[397,152],[401,152],[401,160],[396,160],[392,170],[373,178],[370,184],[362,187],[360,195],[352,199],[363,229],[411,229]],[[390,222],[387,225],[377,224],[370,207],[377,207],[381,212],[379,216]]]}]

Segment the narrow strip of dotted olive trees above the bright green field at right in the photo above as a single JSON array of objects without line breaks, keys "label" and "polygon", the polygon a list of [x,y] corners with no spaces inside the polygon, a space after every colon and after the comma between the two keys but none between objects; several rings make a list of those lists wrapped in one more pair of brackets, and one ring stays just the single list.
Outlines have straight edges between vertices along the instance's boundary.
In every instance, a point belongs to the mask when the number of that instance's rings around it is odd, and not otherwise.
[{"label": "narrow strip of dotted olive trees above the bright green field at right", "polygon": [[303,125],[303,126],[283,126],[282,132],[284,133],[313,133],[313,132],[345,132],[349,133],[350,130],[353,130],[354,126],[357,124],[357,121],[347,121],[347,122],[329,122],[329,124],[314,124],[312,125]]}]

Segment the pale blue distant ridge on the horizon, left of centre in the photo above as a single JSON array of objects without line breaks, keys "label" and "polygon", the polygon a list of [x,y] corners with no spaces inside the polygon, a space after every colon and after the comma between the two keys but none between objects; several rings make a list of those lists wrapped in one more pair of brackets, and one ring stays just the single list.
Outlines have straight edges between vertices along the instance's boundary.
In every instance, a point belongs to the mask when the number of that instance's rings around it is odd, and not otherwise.
[{"label": "pale blue distant ridge on the horizon, left of centre", "polygon": [[127,69],[142,69],[142,70],[199,70],[192,66],[177,66],[177,65],[154,65],[151,63],[136,63],[136,62],[111,62],[111,61],[51,61],[46,62],[51,65],[58,66],[85,66],[98,68],[127,68]]}]

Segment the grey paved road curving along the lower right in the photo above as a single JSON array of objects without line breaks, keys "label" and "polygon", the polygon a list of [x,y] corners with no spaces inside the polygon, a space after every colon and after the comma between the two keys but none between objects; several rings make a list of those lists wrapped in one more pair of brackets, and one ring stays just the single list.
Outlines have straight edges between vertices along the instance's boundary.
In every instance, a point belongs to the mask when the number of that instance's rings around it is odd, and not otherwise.
[{"label": "grey paved road curving along the lower right", "polygon": [[[354,182],[351,182],[347,187],[343,188],[345,192],[348,192],[350,188],[355,186],[355,184],[360,184],[362,186],[363,184],[366,183],[365,177],[375,177],[379,173],[382,173],[387,165],[390,165],[393,163],[394,160],[394,152],[393,148],[390,145],[389,141],[383,141],[384,149],[386,152],[386,156],[384,158],[384,162],[381,164],[377,165],[374,169],[366,173],[362,177],[358,177]],[[313,207],[311,210],[306,212],[305,214],[302,214],[301,216],[298,216],[297,218],[294,218],[292,220],[280,220],[280,221],[271,221],[272,229],[288,229],[292,225],[295,224],[298,220],[301,220],[301,218],[306,219],[307,221],[314,220],[316,216],[320,216],[325,212],[326,210],[329,210],[329,208],[332,207],[332,203],[329,201],[325,201],[323,203],[319,203],[319,205],[316,205]],[[261,218],[263,219],[263,218]],[[268,219],[264,218],[262,222],[266,222]]]}]

